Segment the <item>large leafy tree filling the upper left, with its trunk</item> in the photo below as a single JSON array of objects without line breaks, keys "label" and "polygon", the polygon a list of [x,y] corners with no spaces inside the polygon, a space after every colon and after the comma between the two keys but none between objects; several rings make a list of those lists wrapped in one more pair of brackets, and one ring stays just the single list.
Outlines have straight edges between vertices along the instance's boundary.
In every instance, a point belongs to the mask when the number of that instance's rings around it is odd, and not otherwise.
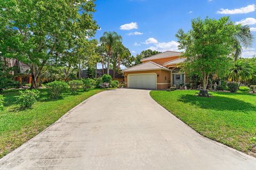
[{"label": "large leafy tree filling the upper left, with its trunk", "polygon": [[0,37],[9,36],[0,41],[0,51],[29,65],[31,88],[37,88],[47,61],[73,50],[73,39],[79,42],[94,35],[94,7],[93,0],[2,1]]}]

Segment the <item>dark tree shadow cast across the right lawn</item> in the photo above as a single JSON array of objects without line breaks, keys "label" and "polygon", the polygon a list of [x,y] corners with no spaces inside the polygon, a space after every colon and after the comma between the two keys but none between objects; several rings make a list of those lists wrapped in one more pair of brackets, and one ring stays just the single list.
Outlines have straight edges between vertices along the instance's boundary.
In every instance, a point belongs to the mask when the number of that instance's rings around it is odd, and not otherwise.
[{"label": "dark tree shadow cast across the right lawn", "polygon": [[222,96],[207,98],[194,95],[181,95],[178,101],[216,111],[256,111],[256,107],[251,103]]}]

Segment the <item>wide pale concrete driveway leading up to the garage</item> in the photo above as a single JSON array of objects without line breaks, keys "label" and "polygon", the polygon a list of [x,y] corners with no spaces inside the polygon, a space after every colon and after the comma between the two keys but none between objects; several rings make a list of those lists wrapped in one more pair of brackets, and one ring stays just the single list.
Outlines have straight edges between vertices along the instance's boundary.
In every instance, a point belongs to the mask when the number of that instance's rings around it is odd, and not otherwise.
[{"label": "wide pale concrete driveway leading up to the garage", "polygon": [[0,159],[0,169],[249,170],[256,159],[202,137],[148,90],[117,89],[78,105]]}]

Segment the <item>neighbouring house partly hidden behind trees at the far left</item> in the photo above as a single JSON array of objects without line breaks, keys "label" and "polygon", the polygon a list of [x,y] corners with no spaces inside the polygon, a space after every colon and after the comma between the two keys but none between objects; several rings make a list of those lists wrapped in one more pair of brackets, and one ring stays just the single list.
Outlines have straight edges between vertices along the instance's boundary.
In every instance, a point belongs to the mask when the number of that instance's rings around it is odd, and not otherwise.
[{"label": "neighbouring house partly hidden behind trees at the far left", "polygon": [[5,58],[9,67],[14,67],[10,74],[14,75],[15,81],[20,83],[31,83],[31,75],[29,74],[30,67],[16,59]]}]

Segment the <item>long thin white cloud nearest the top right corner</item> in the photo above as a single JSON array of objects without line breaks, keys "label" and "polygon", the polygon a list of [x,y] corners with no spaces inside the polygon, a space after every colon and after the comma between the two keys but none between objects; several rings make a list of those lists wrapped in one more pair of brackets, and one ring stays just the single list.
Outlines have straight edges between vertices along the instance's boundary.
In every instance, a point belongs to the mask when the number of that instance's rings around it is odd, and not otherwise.
[{"label": "long thin white cloud nearest the top right corner", "polygon": [[245,7],[236,8],[233,10],[221,8],[219,11],[217,11],[217,13],[218,14],[246,14],[249,12],[253,12],[255,10],[256,10],[256,5],[252,4]]}]

